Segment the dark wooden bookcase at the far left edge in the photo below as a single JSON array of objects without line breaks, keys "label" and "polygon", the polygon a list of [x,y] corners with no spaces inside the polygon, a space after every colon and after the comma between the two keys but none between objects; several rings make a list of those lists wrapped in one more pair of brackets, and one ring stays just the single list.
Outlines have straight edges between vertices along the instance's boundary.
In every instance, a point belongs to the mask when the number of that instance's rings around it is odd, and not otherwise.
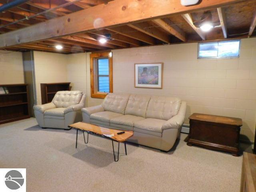
[{"label": "dark wooden bookcase at the far left edge", "polygon": [[0,124],[30,118],[28,112],[28,85],[0,85]]}]

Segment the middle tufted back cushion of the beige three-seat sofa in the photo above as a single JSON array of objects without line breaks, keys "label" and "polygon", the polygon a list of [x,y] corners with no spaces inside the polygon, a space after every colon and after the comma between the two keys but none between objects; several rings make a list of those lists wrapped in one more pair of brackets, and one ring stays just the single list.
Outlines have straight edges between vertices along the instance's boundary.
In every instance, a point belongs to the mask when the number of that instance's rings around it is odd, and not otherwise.
[{"label": "middle tufted back cushion of the beige three-seat sofa", "polygon": [[125,114],[141,116],[145,118],[149,100],[149,95],[130,95],[125,109]]}]

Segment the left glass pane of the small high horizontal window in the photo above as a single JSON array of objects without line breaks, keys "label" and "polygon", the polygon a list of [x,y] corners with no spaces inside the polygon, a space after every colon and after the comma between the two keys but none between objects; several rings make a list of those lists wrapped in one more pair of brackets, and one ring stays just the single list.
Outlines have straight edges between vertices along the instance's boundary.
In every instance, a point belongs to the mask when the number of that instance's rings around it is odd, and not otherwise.
[{"label": "left glass pane of the small high horizontal window", "polygon": [[218,42],[199,44],[198,57],[217,57],[217,56],[218,56]]}]

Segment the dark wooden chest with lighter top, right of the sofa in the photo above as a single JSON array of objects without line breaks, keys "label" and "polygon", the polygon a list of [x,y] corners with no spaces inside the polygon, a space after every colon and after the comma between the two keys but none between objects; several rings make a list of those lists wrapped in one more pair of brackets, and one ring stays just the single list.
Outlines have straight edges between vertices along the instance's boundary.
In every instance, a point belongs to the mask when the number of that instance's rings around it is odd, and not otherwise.
[{"label": "dark wooden chest with lighter top, right of the sofa", "polygon": [[189,117],[188,146],[197,145],[239,156],[242,119],[194,113]]}]

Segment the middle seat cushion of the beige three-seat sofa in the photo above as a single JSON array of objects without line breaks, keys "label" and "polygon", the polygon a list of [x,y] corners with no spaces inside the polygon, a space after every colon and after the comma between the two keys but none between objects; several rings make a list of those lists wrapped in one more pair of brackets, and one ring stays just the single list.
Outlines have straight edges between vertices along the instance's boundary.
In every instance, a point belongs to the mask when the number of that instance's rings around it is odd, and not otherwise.
[{"label": "middle seat cushion of the beige three-seat sofa", "polygon": [[123,116],[111,119],[110,123],[133,127],[134,122],[144,120],[144,119],[145,118],[143,117],[134,116],[134,115],[123,115]]}]

